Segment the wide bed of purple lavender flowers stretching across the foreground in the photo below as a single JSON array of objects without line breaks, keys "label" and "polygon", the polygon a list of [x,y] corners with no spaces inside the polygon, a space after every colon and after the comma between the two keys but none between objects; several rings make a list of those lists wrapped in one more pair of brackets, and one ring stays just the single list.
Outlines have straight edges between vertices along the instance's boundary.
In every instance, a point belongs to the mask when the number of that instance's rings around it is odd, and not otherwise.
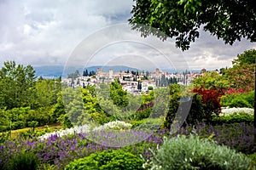
[{"label": "wide bed of purple lavender flowers stretching across the foreground", "polygon": [[[253,145],[253,125],[247,125],[245,123],[234,124],[234,125],[223,125],[223,126],[208,126],[206,124],[199,124],[196,127],[182,127],[178,133],[186,134],[197,133],[202,137],[209,137],[213,135],[214,140],[218,144],[229,145],[231,148],[242,151],[244,153],[253,153],[255,151],[255,146]],[[10,156],[19,154],[21,150],[31,150],[36,153],[39,157],[41,163],[49,163],[55,165],[55,169],[64,169],[64,167],[74,159],[78,159],[84,156],[89,156],[91,153],[101,150],[117,150],[122,148],[123,150],[130,151],[133,154],[140,155],[150,159],[152,153],[148,150],[150,147],[155,150],[157,144],[162,144],[163,136],[168,136],[167,130],[160,130],[148,135],[148,133],[139,133],[135,131],[130,131],[129,138],[122,138],[122,133],[116,138],[119,138],[119,142],[127,142],[129,140],[134,140],[132,138],[138,139],[138,137],[144,140],[137,144],[132,144],[130,146],[122,147],[120,143],[111,147],[108,142],[112,142],[111,138],[105,138],[104,144],[96,143],[90,140],[90,133],[73,133],[67,134],[62,137],[58,135],[51,135],[48,139],[16,139],[15,141],[6,141],[0,144],[0,169],[1,166],[6,164]],[[176,136],[172,134],[169,136],[172,138]],[[113,132],[95,132],[98,136],[110,136],[113,137]]]}]

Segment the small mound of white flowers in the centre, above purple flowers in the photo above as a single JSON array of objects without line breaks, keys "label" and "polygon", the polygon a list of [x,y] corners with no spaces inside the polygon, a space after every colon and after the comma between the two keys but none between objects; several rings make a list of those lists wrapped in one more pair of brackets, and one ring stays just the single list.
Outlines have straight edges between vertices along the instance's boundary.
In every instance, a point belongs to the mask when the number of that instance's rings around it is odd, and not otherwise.
[{"label": "small mound of white flowers in the centre, above purple flowers", "polygon": [[127,122],[122,122],[122,121],[113,121],[113,122],[108,122],[103,124],[100,127],[95,127],[93,130],[94,131],[101,131],[101,130],[107,130],[107,129],[112,129],[112,130],[128,130],[131,129],[131,124]]}]

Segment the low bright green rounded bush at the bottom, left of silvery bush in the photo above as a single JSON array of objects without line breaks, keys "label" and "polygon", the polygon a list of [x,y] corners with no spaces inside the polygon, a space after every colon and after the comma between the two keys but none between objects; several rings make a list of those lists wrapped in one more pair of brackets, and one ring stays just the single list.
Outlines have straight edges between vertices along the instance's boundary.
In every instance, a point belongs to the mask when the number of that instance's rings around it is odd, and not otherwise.
[{"label": "low bright green rounded bush at the bottom, left of silvery bush", "polygon": [[104,150],[69,163],[66,170],[133,170],[143,169],[143,160],[124,150]]}]

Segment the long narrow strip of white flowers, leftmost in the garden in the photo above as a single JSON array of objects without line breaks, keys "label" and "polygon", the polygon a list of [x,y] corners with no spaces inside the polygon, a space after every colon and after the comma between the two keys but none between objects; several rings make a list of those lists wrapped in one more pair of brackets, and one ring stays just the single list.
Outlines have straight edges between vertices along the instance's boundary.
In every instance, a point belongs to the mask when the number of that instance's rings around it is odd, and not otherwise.
[{"label": "long narrow strip of white flowers, leftmost in the garden", "polygon": [[71,128],[61,129],[59,131],[53,132],[53,133],[45,133],[44,135],[40,136],[38,139],[48,139],[52,135],[57,135],[58,137],[72,134],[72,133],[87,133],[90,131],[89,125],[83,125],[83,126],[75,126]]}]

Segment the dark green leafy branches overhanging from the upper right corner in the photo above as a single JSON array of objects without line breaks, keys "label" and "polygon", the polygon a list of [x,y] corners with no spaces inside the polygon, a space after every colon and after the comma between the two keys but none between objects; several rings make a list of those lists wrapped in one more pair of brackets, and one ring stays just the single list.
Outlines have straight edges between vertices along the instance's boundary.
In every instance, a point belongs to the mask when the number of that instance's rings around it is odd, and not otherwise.
[{"label": "dark green leafy branches overhanging from the upper right corner", "polygon": [[[189,49],[190,42],[199,37],[199,29],[209,31],[233,44],[242,37],[256,41],[256,5],[253,0],[134,0],[133,29],[166,40],[176,37],[176,45]],[[149,26],[149,28],[148,28]]]}]

